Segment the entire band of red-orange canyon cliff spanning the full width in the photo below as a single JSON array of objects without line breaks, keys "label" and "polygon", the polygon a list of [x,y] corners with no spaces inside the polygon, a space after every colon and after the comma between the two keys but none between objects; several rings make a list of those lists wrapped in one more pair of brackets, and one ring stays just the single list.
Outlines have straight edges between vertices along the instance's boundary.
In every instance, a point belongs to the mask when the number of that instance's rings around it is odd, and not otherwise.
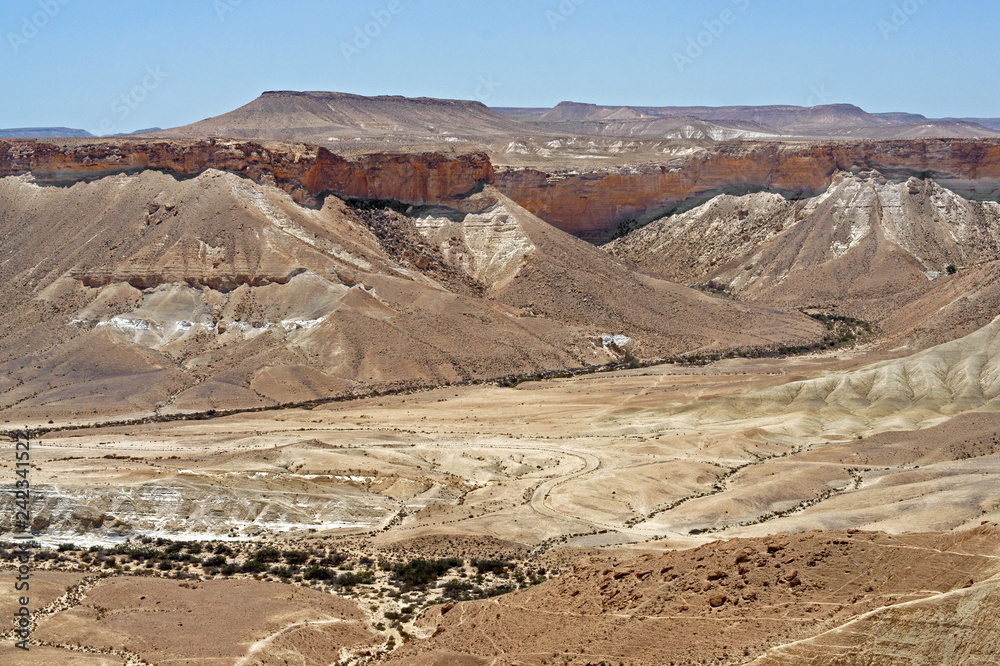
[{"label": "entire band of red-orange canyon cliff spanning the full width", "polygon": [[0,140],[0,177],[31,172],[39,182],[72,182],[161,169],[238,173],[313,204],[342,197],[454,203],[490,183],[547,222],[593,242],[679,203],[755,190],[817,194],[841,170],[933,177],[967,198],[1000,198],[1000,140],[720,143],[669,165],[546,173],[494,170],[483,152],[370,153],[344,157],[316,146],[236,140]]}]

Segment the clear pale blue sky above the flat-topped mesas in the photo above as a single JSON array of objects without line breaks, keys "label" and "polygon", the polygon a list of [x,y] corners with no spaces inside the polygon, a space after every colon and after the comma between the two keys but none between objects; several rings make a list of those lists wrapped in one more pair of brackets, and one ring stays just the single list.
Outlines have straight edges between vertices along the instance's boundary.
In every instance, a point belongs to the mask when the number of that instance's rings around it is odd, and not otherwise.
[{"label": "clear pale blue sky above the flat-topped mesas", "polygon": [[172,127],[279,89],[998,117],[998,26],[996,0],[3,0],[0,127]]}]

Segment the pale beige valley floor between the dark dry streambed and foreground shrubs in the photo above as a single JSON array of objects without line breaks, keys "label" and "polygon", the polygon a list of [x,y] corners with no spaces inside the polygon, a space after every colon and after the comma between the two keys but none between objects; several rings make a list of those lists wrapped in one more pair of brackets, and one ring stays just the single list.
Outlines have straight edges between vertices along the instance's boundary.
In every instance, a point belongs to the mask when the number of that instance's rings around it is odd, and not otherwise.
[{"label": "pale beige valley floor between the dark dry streambed and foreground shrubs", "polygon": [[1000,517],[998,327],[861,367],[733,360],[56,431],[35,444],[37,527],[577,545],[968,527]]}]

